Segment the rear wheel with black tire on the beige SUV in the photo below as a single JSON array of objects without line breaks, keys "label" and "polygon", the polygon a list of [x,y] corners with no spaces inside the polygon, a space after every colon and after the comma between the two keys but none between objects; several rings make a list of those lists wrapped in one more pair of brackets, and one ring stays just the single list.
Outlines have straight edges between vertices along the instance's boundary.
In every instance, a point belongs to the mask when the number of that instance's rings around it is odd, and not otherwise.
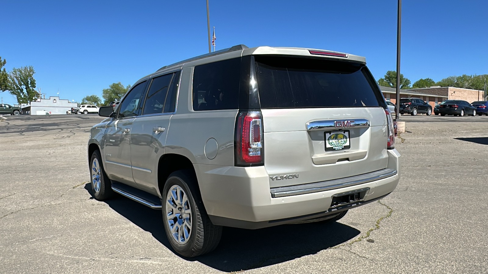
[{"label": "rear wheel with black tire on the beige SUV", "polygon": [[[169,175],[162,192],[164,231],[173,249],[183,257],[213,251],[222,236],[222,226],[210,221],[197,185],[193,171],[180,170]],[[189,225],[188,221],[191,222]]]}]

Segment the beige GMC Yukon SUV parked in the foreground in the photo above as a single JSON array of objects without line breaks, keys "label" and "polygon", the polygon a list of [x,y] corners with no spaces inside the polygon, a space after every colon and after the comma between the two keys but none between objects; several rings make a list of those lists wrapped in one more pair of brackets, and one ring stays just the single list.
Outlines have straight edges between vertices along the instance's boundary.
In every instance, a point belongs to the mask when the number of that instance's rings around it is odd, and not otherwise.
[{"label": "beige GMC Yukon SUV parked in the foreground", "polygon": [[162,210],[174,250],[222,227],[330,222],[399,180],[391,115],[363,57],[244,45],[141,78],[93,126],[93,196]]}]

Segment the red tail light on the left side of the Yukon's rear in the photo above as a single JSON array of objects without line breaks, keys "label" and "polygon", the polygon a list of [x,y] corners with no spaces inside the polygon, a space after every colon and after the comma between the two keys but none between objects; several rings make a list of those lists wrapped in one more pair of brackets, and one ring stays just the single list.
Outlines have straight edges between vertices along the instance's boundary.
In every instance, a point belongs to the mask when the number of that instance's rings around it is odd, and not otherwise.
[{"label": "red tail light on the left side of the Yukon's rear", "polygon": [[263,165],[263,144],[263,117],[261,112],[239,112],[235,130],[235,165]]}]

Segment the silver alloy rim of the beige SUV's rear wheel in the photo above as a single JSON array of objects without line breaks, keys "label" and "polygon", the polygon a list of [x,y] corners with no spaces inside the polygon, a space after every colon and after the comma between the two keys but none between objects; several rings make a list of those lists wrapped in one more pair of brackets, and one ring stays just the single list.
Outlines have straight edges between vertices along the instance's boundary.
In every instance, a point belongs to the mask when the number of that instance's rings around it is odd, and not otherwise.
[{"label": "silver alloy rim of the beige SUV's rear wheel", "polygon": [[173,185],[166,195],[166,225],[178,244],[185,244],[191,236],[191,206],[188,196],[179,185]]}]

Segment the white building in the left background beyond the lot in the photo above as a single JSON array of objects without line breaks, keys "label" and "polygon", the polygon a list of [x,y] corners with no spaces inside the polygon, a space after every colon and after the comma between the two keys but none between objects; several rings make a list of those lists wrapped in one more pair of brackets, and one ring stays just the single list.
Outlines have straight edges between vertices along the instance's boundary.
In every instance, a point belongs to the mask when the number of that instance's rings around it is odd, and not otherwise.
[{"label": "white building in the left background beyond the lot", "polygon": [[51,96],[49,99],[37,99],[30,104],[22,106],[24,114],[30,115],[56,115],[66,114],[67,111],[71,111],[71,108],[78,107],[77,103],[71,103],[69,100],[60,99],[56,96]]}]

